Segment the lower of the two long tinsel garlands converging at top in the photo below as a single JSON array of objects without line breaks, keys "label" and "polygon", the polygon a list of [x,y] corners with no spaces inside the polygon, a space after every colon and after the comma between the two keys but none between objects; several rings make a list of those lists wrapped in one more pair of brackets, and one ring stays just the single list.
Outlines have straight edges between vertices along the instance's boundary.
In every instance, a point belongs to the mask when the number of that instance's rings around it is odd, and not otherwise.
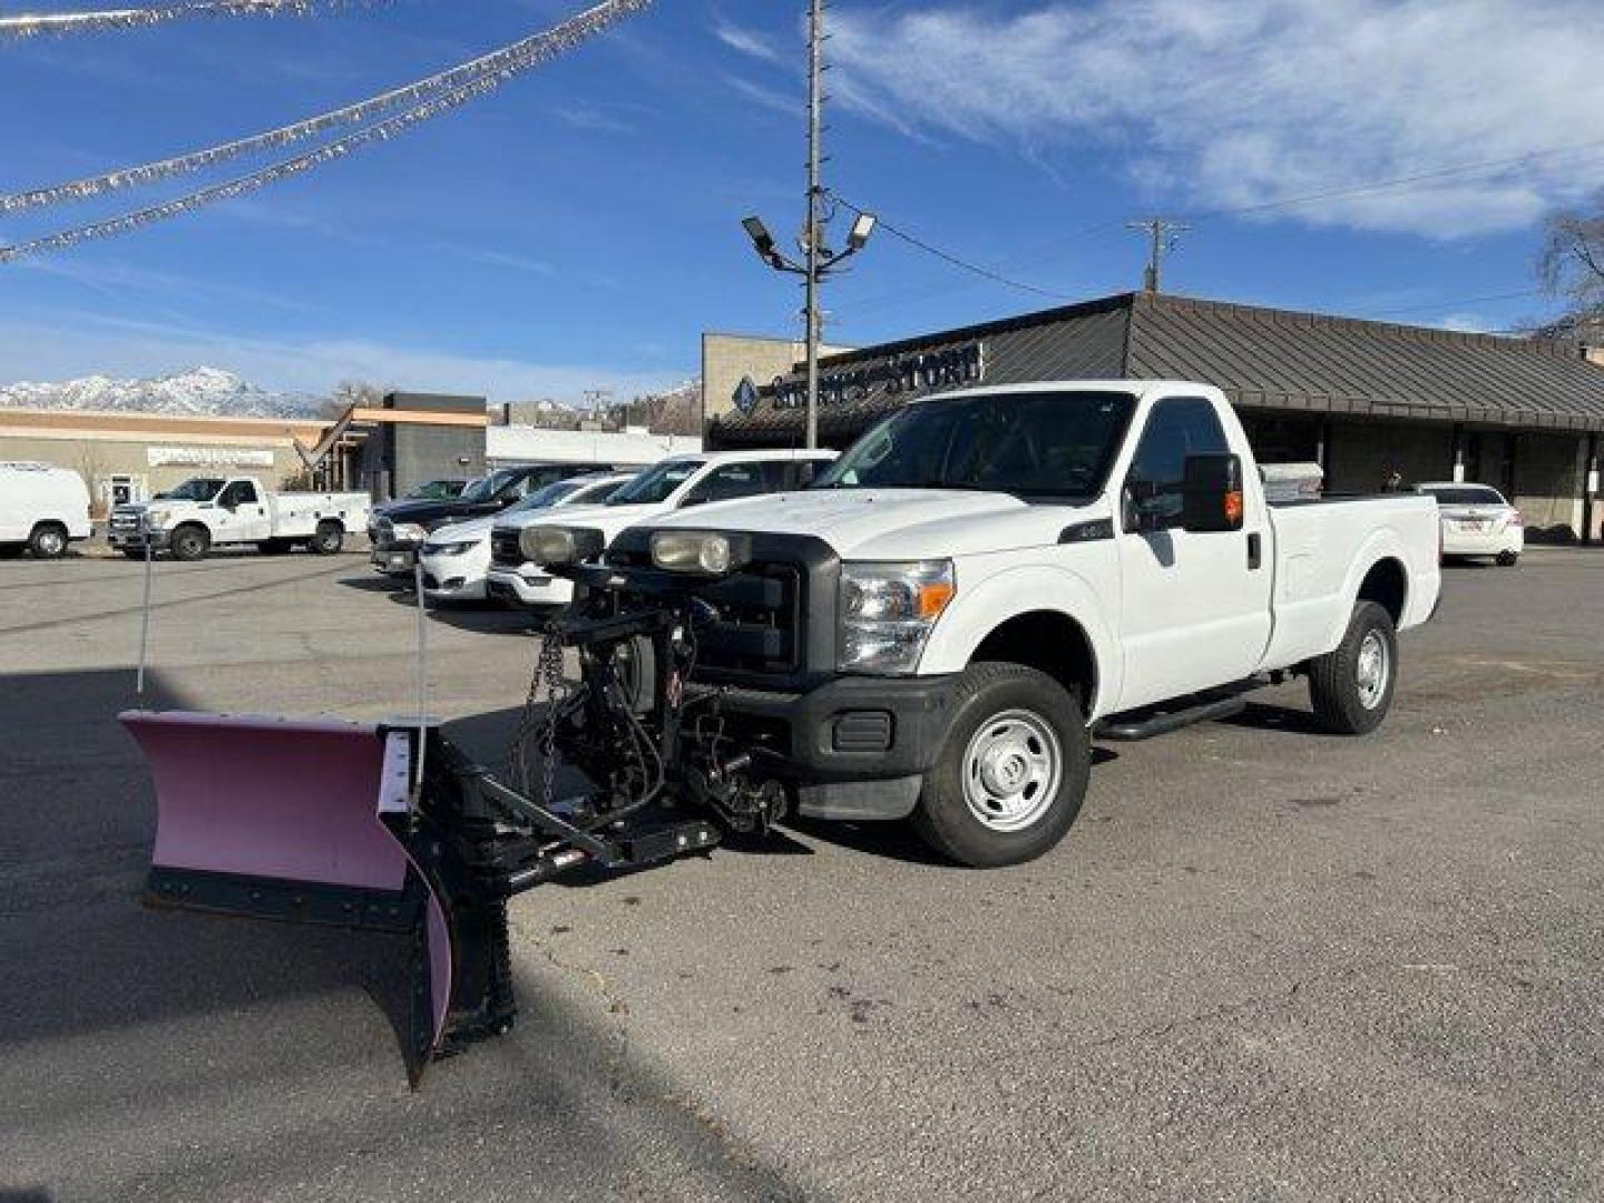
[{"label": "lower of the two long tinsel garlands converging at top", "polygon": [[[614,10],[616,14],[624,11],[635,11],[645,8],[651,0],[627,0],[627,3],[619,5],[600,5],[563,26],[550,30],[552,34],[560,34],[579,21],[585,21],[602,8]],[[587,26],[585,35],[598,32],[603,26]],[[563,47],[576,45],[584,40],[582,37],[573,37]],[[74,229],[63,229],[55,234],[45,234],[42,237],[29,239],[27,242],[18,242],[16,245],[0,247],[0,263],[10,263],[13,260],[22,258],[24,255],[42,255],[51,250],[64,250],[77,242],[87,242],[90,239],[111,237],[112,234],[124,234],[130,229],[138,229],[140,226],[148,226],[152,221],[164,221],[170,217],[178,217],[191,210],[200,209],[202,205],[217,204],[218,200],[233,200],[234,197],[245,196],[247,192],[255,192],[266,188],[271,183],[286,180],[292,175],[300,175],[313,167],[321,167],[334,159],[343,159],[351,151],[363,146],[371,146],[374,143],[388,141],[398,133],[409,130],[419,122],[425,122],[430,117],[436,117],[441,112],[454,109],[465,104],[476,96],[483,96],[494,91],[507,80],[528,71],[537,63],[544,63],[553,53],[552,50],[542,50],[542,53],[531,58],[528,63],[508,63],[502,64],[499,69],[484,74],[464,87],[454,88],[452,91],[433,96],[431,99],[417,104],[406,112],[399,112],[395,117],[388,117],[377,125],[369,125],[366,128],[348,133],[343,138],[335,138],[334,141],[324,143],[322,146],[305,151],[292,159],[282,159],[276,164],[269,164],[261,170],[250,172],[249,175],[241,175],[233,180],[225,180],[223,183],[202,188],[184,196],[173,197],[172,200],[164,200],[159,205],[149,205],[148,209],[140,209],[132,213],[122,213],[119,217],[106,218],[104,221],[93,221],[85,226],[77,226]]]}]

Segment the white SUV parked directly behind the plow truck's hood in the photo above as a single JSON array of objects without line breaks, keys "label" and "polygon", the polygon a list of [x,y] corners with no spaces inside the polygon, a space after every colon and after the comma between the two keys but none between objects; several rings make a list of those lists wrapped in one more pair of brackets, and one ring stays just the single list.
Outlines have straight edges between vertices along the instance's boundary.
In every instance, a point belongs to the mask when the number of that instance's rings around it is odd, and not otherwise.
[{"label": "white SUV parked directly behind the plow truck's hood", "polygon": [[566,606],[574,587],[525,558],[525,528],[542,523],[602,531],[611,542],[626,526],[707,502],[792,492],[836,459],[834,451],[719,451],[672,456],[642,472],[605,505],[576,505],[560,513],[508,513],[491,528],[491,571],[486,592],[525,606]]}]

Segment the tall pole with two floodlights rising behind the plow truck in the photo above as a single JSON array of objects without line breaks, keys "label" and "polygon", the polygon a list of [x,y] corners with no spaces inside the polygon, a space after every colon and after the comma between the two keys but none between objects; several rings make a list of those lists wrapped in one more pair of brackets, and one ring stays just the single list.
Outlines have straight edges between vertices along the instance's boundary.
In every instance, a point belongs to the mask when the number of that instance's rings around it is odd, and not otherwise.
[{"label": "tall pole with two floodlights rising behind the plow truck", "polygon": [[[780,253],[773,234],[762,218],[746,217],[741,225],[752,249],[775,271],[788,271],[804,277],[802,324],[807,342],[807,446],[818,446],[818,342],[823,322],[818,311],[818,289],[829,273],[852,255],[863,250],[874,233],[874,215],[855,210],[847,245],[831,250],[824,245],[824,226],[829,218],[829,197],[821,180],[824,162],[824,0],[808,0],[807,22],[807,215],[802,218],[802,261],[794,263]],[[852,205],[847,205],[852,209]]]}]

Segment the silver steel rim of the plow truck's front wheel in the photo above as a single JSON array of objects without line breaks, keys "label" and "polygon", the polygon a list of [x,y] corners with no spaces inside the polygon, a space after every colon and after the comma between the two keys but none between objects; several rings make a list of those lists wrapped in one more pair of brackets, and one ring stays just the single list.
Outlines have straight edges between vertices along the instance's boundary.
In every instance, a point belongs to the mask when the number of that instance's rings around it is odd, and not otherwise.
[{"label": "silver steel rim of the plow truck's front wheel", "polygon": [[1052,805],[1063,778],[1059,736],[1033,711],[1004,711],[964,749],[964,802],[993,831],[1023,831]]}]

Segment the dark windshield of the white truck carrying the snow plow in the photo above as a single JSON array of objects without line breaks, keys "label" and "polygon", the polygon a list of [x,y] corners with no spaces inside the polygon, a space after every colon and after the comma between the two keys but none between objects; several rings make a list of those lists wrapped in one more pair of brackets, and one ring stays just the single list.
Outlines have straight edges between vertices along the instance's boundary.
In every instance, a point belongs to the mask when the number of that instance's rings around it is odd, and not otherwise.
[{"label": "dark windshield of the white truck carrying the snow plow", "polygon": [[986,393],[898,411],[852,444],[815,489],[985,489],[1088,497],[1120,449],[1129,393]]}]

